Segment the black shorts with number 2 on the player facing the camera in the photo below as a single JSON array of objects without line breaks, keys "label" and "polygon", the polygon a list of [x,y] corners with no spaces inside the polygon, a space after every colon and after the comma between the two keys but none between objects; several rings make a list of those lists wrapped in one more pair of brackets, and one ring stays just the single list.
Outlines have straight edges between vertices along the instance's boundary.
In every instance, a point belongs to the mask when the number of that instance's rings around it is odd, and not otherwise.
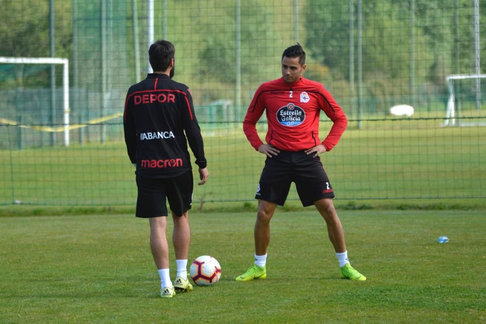
[{"label": "black shorts with number 2 on the player facing the camera", "polygon": [[267,157],[255,199],[283,206],[292,182],[295,182],[304,207],[322,198],[334,198],[334,190],[319,156],[312,156],[304,151],[280,151]]}]

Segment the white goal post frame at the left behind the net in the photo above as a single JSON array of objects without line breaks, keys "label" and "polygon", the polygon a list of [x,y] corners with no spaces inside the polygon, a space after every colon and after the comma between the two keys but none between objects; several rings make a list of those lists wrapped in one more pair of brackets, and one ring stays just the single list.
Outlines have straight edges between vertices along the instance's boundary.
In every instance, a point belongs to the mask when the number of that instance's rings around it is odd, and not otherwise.
[{"label": "white goal post frame at the left behind the net", "polygon": [[56,57],[2,57],[0,63],[10,64],[61,64],[63,66],[63,131],[64,146],[69,146],[69,60]]}]

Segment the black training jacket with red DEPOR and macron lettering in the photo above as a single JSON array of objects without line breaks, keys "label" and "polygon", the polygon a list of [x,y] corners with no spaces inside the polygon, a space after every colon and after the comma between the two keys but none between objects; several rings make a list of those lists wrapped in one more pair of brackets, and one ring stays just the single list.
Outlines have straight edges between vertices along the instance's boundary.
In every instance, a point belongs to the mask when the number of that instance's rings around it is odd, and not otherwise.
[{"label": "black training jacket with red DEPOR and macron lettering", "polygon": [[150,73],[128,89],[123,130],[137,175],[172,178],[191,170],[188,142],[195,163],[207,166],[191,92],[166,74]]}]

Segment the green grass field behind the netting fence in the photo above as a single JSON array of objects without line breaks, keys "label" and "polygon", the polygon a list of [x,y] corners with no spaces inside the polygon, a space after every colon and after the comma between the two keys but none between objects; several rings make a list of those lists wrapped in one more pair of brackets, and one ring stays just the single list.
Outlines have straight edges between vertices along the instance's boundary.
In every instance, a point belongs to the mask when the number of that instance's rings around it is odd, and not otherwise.
[{"label": "green grass field behind the netting fence", "polygon": [[[486,127],[441,127],[442,121],[367,120],[361,130],[350,122],[339,144],[321,155],[336,197],[395,199],[399,204],[485,200],[478,198],[486,197],[486,164],[481,163],[486,160]],[[321,126],[322,137],[330,122]],[[73,142],[68,148],[0,151],[0,205],[133,206],[134,169],[117,127],[104,145]],[[202,128],[210,178],[195,188],[194,202],[252,201],[264,155],[250,146],[239,124]],[[289,201],[296,200],[292,190]]]}]

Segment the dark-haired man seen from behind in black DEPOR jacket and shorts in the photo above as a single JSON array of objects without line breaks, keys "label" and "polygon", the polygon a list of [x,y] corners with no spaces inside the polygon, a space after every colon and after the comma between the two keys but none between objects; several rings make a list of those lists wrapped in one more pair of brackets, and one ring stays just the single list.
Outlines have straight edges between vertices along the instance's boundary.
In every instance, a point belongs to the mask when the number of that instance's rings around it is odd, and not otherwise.
[{"label": "dark-haired man seen from behind in black DEPOR jacket and shorts", "polygon": [[[129,88],[123,113],[128,156],[137,168],[136,216],[149,219],[150,247],[160,276],[160,296],[166,298],[173,297],[176,290],[192,290],[187,278],[193,191],[188,142],[199,167],[198,185],[205,184],[209,175],[191,92],[187,85],[172,80],[174,56],[171,42],[158,40],[150,46],[149,60],[154,73]],[[174,285],[169,276],[166,199],[174,220],[177,264]]]}]

